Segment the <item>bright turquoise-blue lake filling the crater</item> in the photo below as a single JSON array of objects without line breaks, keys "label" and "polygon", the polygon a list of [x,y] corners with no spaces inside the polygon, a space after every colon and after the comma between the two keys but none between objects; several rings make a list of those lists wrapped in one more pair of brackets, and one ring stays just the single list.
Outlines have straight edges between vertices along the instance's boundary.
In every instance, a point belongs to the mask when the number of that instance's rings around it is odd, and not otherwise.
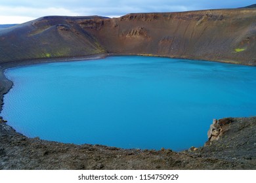
[{"label": "bright turquoise-blue lake filling the crater", "polygon": [[140,56],[8,69],[1,116],[28,137],[121,148],[202,146],[213,118],[256,115],[256,67]]}]

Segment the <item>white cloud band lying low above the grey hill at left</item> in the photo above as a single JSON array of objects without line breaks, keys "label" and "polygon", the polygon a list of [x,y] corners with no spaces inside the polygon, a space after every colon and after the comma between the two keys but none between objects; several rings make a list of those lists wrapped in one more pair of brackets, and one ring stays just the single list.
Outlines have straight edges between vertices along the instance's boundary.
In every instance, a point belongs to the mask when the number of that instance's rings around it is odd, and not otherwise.
[{"label": "white cloud band lying low above the grey hill at left", "polygon": [[139,7],[80,7],[75,9],[48,7],[6,7],[0,5],[0,24],[21,24],[42,16],[109,16],[118,17],[130,12],[144,12]]}]

